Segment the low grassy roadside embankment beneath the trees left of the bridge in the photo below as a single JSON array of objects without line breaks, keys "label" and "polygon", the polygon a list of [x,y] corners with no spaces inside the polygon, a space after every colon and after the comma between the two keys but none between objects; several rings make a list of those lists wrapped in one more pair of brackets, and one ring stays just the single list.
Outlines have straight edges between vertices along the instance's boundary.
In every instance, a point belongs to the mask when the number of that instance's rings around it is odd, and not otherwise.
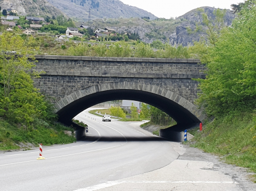
[{"label": "low grassy roadside embankment beneath the trees left of the bridge", "polygon": [[[26,132],[16,124],[10,124],[0,118],[0,150],[16,150],[20,149],[19,145],[26,145],[27,143],[37,146],[39,143],[43,145],[53,144],[69,144],[76,141],[73,136],[64,134],[64,130],[73,129],[55,123],[52,127],[35,127],[32,131]],[[22,143],[22,144],[21,144]],[[24,150],[29,148],[24,147]]]}]

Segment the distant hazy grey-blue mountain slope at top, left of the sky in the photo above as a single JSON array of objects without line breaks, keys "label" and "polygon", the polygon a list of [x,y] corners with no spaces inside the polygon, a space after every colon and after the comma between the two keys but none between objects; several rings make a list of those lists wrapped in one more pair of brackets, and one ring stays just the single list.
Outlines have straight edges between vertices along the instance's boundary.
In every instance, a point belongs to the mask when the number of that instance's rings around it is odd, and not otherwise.
[{"label": "distant hazy grey-blue mountain slope at top, left of the sky", "polygon": [[143,9],[129,6],[119,0],[47,0],[56,8],[78,21],[87,21],[89,8],[91,18],[130,18],[149,16],[150,19],[157,17]]}]

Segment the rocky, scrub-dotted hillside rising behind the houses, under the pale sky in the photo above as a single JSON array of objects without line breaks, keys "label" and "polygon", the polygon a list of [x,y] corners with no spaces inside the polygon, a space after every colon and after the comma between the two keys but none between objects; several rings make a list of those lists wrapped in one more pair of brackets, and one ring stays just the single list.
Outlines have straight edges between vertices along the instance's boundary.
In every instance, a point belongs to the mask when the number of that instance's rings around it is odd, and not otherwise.
[{"label": "rocky, scrub-dotted hillside rising behind the houses, under the pale sky", "polygon": [[[152,41],[159,39],[163,43],[169,42],[172,45],[183,44],[187,46],[193,44],[193,41],[200,40],[201,37],[206,37],[204,31],[207,28],[202,23],[202,14],[207,13],[209,18],[214,19],[214,10],[216,9],[212,7],[202,7],[191,10],[177,19],[168,20],[143,20],[140,18],[95,19],[92,22],[92,28],[110,27],[116,29],[119,33],[138,33],[140,39],[145,43],[152,43]],[[234,18],[235,14],[227,10],[224,17],[225,25],[230,26]],[[87,22],[86,25],[89,25],[89,23]],[[196,25],[201,28],[200,31],[195,31]],[[190,28],[191,32],[188,32],[187,28]]]}]

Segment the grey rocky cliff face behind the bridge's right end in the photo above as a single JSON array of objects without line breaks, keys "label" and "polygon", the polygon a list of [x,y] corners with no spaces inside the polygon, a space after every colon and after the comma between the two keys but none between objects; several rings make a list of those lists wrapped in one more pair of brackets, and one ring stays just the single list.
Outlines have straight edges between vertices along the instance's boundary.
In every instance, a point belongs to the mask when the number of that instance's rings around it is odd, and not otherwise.
[{"label": "grey rocky cliff face behind the bridge's right end", "polygon": [[[206,31],[207,28],[203,25],[202,13],[206,13],[208,18],[215,19],[214,10],[216,9],[212,7],[201,7],[178,17],[177,20],[181,20],[181,24],[176,27],[176,31],[174,33],[169,35],[168,38],[170,44],[182,44],[187,46],[190,44],[193,45],[193,41],[199,41],[200,38],[206,38],[207,34],[204,31]],[[235,14],[230,10],[227,10],[226,15],[224,16],[225,25],[230,26],[234,18]],[[201,26],[202,30],[195,32],[196,25]],[[192,32],[187,32],[187,28],[190,28]]]}]

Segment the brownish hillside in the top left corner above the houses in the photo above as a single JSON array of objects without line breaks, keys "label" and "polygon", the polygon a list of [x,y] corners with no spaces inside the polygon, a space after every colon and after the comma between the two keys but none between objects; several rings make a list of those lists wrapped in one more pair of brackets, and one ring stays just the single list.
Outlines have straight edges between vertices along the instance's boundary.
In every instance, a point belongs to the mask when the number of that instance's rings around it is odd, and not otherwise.
[{"label": "brownish hillside in the top left corner above the houses", "polygon": [[[45,0],[0,0],[0,7],[3,9],[14,9],[22,16],[58,16],[62,13],[52,4]],[[65,15],[65,14],[64,14]]]}]

